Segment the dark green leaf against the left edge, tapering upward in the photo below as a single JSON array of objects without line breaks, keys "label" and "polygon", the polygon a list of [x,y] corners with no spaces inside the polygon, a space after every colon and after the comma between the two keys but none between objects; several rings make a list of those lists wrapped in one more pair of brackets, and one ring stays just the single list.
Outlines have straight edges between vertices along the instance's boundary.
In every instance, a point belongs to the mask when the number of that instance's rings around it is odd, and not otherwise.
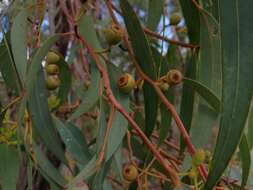
[{"label": "dark green leaf against the left edge, tapering upward", "polygon": [[8,89],[11,89],[17,93],[19,91],[18,75],[15,64],[12,60],[12,54],[8,42],[8,34],[4,36],[4,39],[0,44],[0,59],[0,72],[6,83],[6,86]]}]

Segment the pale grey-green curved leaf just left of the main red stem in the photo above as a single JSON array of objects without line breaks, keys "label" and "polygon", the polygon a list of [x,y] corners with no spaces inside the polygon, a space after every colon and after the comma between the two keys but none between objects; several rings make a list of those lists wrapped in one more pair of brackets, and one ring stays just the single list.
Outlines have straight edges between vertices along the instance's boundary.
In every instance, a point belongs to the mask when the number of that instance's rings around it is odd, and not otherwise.
[{"label": "pale grey-green curved leaf just left of the main red stem", "polygon": [[92,68],[91,73],[91,85],[88,90],[85,92],[84,96],[81,98],[81,104],[75,110],[75,112],[69,117],[69,121],[78,118],[80,115],[89,111],[98,101],[99,99],[99,81],[100,74],[97,68]]}]

